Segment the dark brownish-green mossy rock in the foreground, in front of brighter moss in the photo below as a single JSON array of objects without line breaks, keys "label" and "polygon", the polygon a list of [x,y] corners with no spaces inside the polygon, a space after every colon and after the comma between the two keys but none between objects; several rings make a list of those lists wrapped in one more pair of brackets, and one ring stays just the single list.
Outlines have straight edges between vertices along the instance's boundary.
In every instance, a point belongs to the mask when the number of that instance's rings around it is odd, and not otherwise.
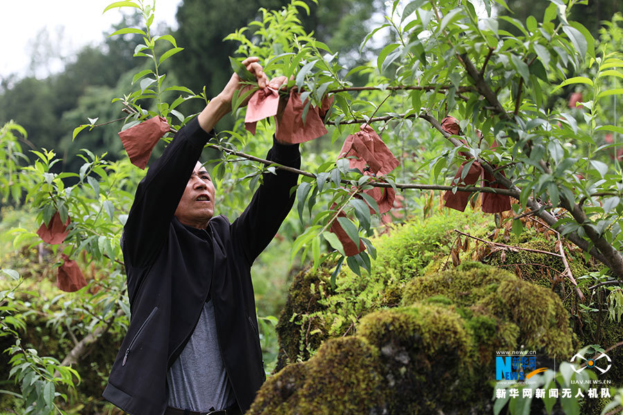
[{"label": "dark brownish-green mossy rock in the foreground, in front of brighter moss", "polygon": [[270,378],[250,413],[485,413],[496,350],[572,350],[556,295],[480,265],[412,279],[402,306],[368,313],[353,332]]}]

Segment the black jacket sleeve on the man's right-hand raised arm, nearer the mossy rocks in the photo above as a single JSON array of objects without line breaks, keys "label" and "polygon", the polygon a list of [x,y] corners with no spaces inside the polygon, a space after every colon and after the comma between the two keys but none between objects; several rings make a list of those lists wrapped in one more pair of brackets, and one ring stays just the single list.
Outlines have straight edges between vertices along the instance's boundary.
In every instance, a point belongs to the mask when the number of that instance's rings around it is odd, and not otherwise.
[{"label": "black jacket sleeve on the man's right-hand raised arm, nearer the mossy rocks", "polygon": [[[298,169],[298,144],[283,145],[273,141],[267,160]],[[249,265],[275,237],[294,205],[295,194],[290,194],[290,190],[296,185],[298,174],[276,169],[276,174],[264,173],[262,179],[263,183],[253,194],[251,203],[231,225],[232,236],[242,248]]]}]

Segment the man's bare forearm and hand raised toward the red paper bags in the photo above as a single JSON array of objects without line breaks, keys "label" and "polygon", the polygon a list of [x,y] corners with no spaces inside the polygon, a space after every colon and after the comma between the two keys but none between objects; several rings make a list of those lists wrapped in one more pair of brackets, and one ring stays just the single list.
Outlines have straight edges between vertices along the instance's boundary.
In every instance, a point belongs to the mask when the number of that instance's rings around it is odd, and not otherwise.
[{"label": "man's bare forearm and hand raised toward the red paper bags", "polygon": [[[249,72],[255,75],[255,80],[258,81],[258,86],[260,88],[265,88],[268,84],[268,77],[264,73],[264,68],[262,65],[258,64],[257,57],[248,57],[244,59],[242,64],[249,69]],[[251,91],[253,86],[246,85],[242,83],[242,80],[235,73],[231,75],[229,82],[227,82],[225,88],[219,95],[217,95],[213,100],[210,100],[204,111],[199,113],[197,120],[199,120],[199,125],[204,131],[211,131],[217,122],[221,118],[225,116],[226,113],[231,111],[231,101],[233,100],[233,94],[236,90],[240,91],[240,96],[244,95],[246,92]],[[249,102],[251,95],[242,102],[242,105],[246,105]]]}]

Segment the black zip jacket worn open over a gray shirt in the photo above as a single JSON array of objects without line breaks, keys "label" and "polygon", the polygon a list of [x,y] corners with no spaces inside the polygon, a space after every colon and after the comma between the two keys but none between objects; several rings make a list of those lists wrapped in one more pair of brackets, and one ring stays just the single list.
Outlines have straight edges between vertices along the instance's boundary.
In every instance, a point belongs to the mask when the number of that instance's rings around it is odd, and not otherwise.
[{"label": "black zip jacket worn open over a gray shirt", "polygon": [[[132,319],[103,396],[133,415],[163,414],[167,371],[195,330],[208,293],[243,412],[265,380],[251,264],[291,209],[297,176],[283,170],[264,174],[233,223],[217,216],[205,230],[183,225],[174,212],[209,138],[196,118],[176,134],[138,185],[125,224],[121,247]],[[300,166],[298,145],[274,142],[267,158]]]}]

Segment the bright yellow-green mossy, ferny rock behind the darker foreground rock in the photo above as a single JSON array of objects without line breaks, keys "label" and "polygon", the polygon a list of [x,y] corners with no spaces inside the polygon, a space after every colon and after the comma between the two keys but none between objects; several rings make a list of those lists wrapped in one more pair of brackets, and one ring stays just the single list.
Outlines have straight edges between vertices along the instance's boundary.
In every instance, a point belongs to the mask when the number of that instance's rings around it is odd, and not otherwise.
[{"label": "bright yellow-green mossy, ferny rock behind the darker foreground rock", "polygon": [[338,275],[337,288],[329,284],[332,269],[306,270],[294,278],[277,333],[280,352],[276,370],[307,360],[327,338],[354,333],[364,315],[401,302],[406,284],[424,274],[436,260],[447,257],[453,229],[477,225],[487,231],[490,220],[481,214],[449,212],[426,221],[413,221],[373,239],[377,259],[372,273]]}]

